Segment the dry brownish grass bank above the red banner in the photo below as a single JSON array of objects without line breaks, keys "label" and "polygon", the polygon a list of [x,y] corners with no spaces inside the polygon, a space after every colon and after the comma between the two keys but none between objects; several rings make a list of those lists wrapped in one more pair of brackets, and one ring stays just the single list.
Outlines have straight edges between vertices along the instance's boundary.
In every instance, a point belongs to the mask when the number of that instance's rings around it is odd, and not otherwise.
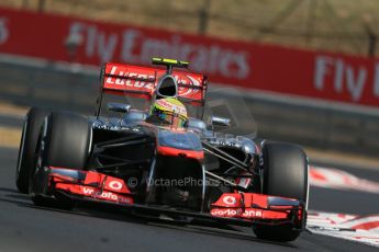
[{"label": "dry brownish grass bank above the red banner", "polygon": [[[196,34],[205,1],[44,0],[44,11]],[[0,5],[37,10],[38,2]],[[357,55],[368,51],[365,25],[379,35],[378,0],[210,0],[209,16],[210,36]]]}]

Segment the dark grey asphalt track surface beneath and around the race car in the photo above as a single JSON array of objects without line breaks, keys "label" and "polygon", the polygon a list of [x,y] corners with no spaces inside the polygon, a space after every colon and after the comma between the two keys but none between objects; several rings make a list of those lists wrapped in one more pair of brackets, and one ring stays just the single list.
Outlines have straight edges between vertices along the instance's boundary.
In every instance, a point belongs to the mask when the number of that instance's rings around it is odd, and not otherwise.
[{"label": "dark grey asphalt track surface beneath and around the race car", "polygon": [[[258,240],[249,229],[181,226],[78,207],[74,211],[34,207],[14,185],[16,149],[0,149],[0,252],[8,251],[378,251],[336,238],[303,232],[292,243]],[[379,181],[379,171],[349,168]],[[346,214],[378,214],[377,194],[311,188],[310,208]]]}]

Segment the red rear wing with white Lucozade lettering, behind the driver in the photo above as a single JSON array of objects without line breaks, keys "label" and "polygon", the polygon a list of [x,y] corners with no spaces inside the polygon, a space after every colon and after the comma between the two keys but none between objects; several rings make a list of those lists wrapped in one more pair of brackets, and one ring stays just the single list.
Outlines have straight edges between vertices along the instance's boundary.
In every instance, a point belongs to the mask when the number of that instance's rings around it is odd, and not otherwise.
[{"label": "red rear wing with white Lucozade lettering, behind the driver", "polygon": [[[103,93],[152,100],[160,78],[165,75],[167,71],[164,68],[104,64],[100,73],[101,87],[96,116],[100,113]],[[190,102],[192,105],[204,104],[208,87],[208,79],[204,75],[177,69],[172,70],[170,75],[178,83],[179,100]]]}]

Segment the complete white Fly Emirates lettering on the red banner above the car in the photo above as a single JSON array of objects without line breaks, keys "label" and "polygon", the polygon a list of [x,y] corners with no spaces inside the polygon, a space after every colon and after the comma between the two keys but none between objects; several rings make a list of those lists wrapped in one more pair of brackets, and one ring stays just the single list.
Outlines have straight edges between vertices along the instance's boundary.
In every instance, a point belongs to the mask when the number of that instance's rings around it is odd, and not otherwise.
[{"label": "complete white Fly Emirates lettering on the red banner above the car", "polygon": [[218,44],[191,43],[178,34],[152,36],[144,30],[108,31],[100,25],[75,21],[66,37],[82,37],[80,47],[88,58],[102,62],[118,58],[124,62],[149,64],[154,55],[165,58],[188,59],[193,70],[245,79],[250,71],[249,54]]}]

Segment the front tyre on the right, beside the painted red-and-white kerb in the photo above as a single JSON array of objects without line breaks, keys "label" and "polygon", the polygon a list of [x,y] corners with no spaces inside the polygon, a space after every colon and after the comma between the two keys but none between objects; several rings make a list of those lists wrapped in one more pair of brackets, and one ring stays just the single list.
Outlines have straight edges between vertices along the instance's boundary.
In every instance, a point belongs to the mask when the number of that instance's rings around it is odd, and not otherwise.
[{"label": "front tyre on the right, beside the painted red-and-white kerb", "polygon": [[[261,149],[264,194],[297,198],[308,204],[308,158],[301,147],[283,142],[265,142]],[[303,219],[302,221],[306,221]],[[292,225],[257,226],[255,234],[265,240],[289,242],[300,231]]]}]

